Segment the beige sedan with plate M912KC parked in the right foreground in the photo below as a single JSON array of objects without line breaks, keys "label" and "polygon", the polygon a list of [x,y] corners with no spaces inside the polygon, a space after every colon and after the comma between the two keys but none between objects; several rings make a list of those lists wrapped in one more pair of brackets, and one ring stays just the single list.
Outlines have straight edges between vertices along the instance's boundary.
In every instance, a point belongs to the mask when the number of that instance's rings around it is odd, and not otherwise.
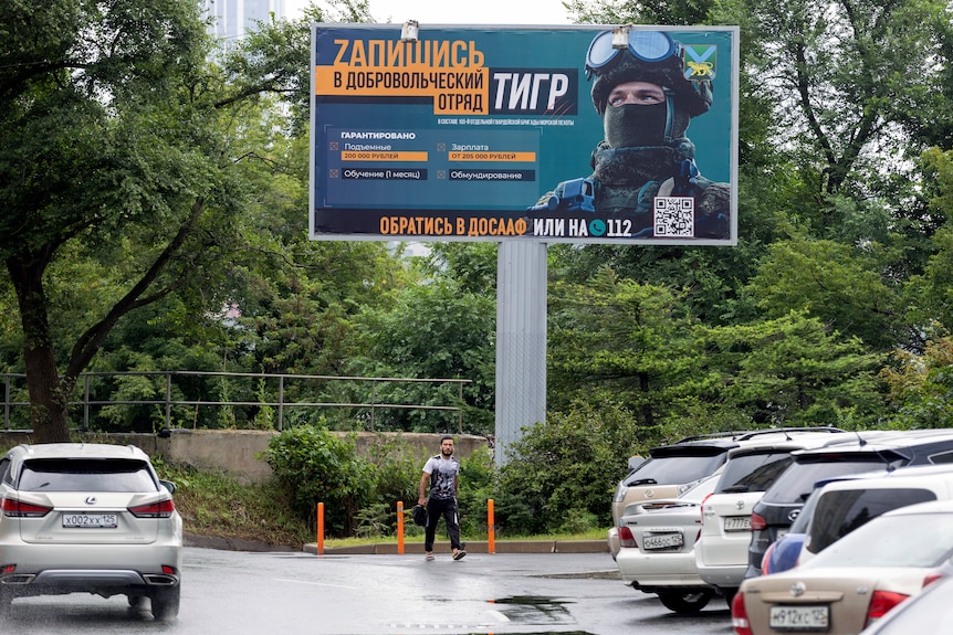
[{"label": "beige sedan with plate M912KC parked in the right foreground", "polygon": [[732,601],[739,635],[857,635],[942,575],[953,557],[953,501],[889,511],[800,567],[752,578]]}]

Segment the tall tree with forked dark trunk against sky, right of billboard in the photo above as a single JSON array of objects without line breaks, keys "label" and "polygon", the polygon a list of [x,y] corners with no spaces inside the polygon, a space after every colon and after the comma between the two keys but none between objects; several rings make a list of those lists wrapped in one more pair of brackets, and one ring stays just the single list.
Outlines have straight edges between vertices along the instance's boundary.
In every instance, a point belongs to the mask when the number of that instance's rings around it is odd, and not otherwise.
[{"label": "tall tree with forked dark trunk against sky, right of billboard", "polygon": [[934,72],[949,35],[945,3],[736,0],[713,19],[742,25],[744,74],[774,105],[772,137],[800,170],[798,214],[826,237],[869,237],[876,223],[851,223],[838,197],[870,216],[873,197],[902,170],[881,148],[917,157],[924,148],[911,131],[949,119]]}]

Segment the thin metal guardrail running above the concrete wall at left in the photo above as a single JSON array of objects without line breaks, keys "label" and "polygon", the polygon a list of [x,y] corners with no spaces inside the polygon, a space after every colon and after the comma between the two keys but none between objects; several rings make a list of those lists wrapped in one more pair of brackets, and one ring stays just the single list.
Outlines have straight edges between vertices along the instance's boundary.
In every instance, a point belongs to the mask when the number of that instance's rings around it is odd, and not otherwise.
[{"label": "thin metal guardrail running above the concrete wall at left", "polygon": [[[30,402],[11,401],[13,392],[13,381],[21,380],[25,382],[27,375],[23,373],[0,373],[3,378],[3,430],[10,431],[10,414],[13,408],[30,406]],[[90,399],[90,382],[97,377],[164,377],[165,378],[165,399],[144,399],[135,401],[97,401]],[[174,400],[172,399],[172,379],[176,377],[223,377],[223,378],[250,378],[259,380],[274,380],[277,382],[277,399],[275,401],[205,401],[205,400]],[[422,405],[422,404],[404,404],[404,403],[378,403],[376,401],[377,387],[380,383],[432,383],[432,384],[455,384],[458,403],[463,403],[463,385],[472,383],[469,379],[408,379],[392,377],[339,377],[339,375],[321,375],[321,374],[280,374],[280,373],[243,373],[243,372],[211,372],[211,371],[142,371],[142,372],[85,372],[80,374],[83,385],[83,400],[71,401],[70,406],[83,408],[83,431],[90,430],[90,410],[93,406],[100,405],[163,405],[165,406],[166,427],[171,427],[172,408],[177,405],[188,406],[270,406],[277,409],[277,431],[284,430],[284,412],[289,408],[359,408],[370,411],[370,432],[375,432],[375,415],[377,410],[397,409],[397,410],[432,410],[447,411],[457,413],[457,432],[463,433],[463,409],[460,405]],[[286,382],[291,380],[302,381],[346,381],[346,382],[370,382],[370,401],[363,403],[345,403],[345,402],[312,402],[312,401],[285,401]]]}]

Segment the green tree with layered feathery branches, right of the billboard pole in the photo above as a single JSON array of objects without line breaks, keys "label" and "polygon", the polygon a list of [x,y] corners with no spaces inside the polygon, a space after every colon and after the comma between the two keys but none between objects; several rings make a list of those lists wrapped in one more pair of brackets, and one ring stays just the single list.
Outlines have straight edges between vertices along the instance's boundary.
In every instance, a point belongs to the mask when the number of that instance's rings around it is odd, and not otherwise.
[{"label": "green tree with layered feathery branches, right of the billboard pole", "polygon": [[551,313],[553,409],[622,403],[646,437],[753,425],[868,425],[888,414],[884,356],[817,318],[708,327],[668,289],[617,281],[556,285]]}]

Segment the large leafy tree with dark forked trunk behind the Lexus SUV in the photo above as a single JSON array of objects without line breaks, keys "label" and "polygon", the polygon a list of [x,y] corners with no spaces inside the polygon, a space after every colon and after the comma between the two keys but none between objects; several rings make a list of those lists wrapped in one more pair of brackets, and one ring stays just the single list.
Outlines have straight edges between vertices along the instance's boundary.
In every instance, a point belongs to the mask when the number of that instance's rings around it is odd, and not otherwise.
[{"label": "large leafy tree with dark forked trunk behind the Lexus SUV", "polygon": [[[188,0],[15,1],[0,33],[0,254],[34,438],[65,440],[76,378],[121,319],[172,294],[191,315],[231,295],[223,265],[248,252],[232,220],[253,183],[230,141],[262,94],[307,103],[308,32],[264,25],[222,66]],[[108,283],[85,315],[55,304],[75,283],[53,277],[67,258]]]}]

